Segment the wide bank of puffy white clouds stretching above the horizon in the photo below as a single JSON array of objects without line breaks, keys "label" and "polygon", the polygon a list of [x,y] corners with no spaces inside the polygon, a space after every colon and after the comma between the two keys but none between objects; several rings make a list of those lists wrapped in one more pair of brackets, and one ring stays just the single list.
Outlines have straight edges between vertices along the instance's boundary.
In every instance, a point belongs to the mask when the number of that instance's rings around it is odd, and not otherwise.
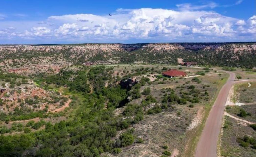
[{"label": "wide bank of puffy white clouds stretching above the horizon", "polygon": [[[189,6],[189,7],[187,7]],[[117,9],[113,16],[93,14],[70,14],[50,16],[44,21],[26,23],[12,29],[17,23],[0,22],[0,38],[35,40],[76,40],[85,42],[186,41],[217,42],[219,40],[244,39],[251,35],[256,39],[256,15],[249,19],[237,19],[213,11],[197,9],[215,7],[212,3],[204,6],[179,5],[170,9]],[[196,10],[194,10],[196,9]],[[4,25],[2,25],[4,24]]]}]

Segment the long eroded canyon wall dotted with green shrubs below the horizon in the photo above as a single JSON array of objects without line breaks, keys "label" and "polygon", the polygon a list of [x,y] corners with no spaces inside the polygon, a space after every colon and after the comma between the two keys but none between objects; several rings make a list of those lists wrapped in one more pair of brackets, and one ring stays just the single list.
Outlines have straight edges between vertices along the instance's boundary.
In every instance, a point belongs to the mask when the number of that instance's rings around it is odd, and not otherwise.
[{"label": "long eroded canyon wall dotted with green shrubs below the horizon", "polygon": [[91,61],[177,64],[177,58],[200,65],[251,67],[255,43],[145,43],[75,45],[1,45],[0,66],[8,72],[56,73],[60,67]]}]

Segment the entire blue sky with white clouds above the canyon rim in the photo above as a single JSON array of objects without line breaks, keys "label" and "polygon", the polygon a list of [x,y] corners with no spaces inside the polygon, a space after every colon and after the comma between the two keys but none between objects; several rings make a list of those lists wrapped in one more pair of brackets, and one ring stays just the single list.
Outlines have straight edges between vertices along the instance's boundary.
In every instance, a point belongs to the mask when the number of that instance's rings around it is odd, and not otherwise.
[{"label": "entire blue sky with white clouds above the canyon rim", "polygon": [[256,41],[255,0],[2,0],[0,6],[0,44]]}]

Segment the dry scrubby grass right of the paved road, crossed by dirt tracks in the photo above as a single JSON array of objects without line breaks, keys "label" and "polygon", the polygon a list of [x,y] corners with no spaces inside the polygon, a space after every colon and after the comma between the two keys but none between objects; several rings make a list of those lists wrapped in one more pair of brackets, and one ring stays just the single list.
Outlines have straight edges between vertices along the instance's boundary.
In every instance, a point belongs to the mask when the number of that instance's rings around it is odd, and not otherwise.
[{"label": "dry scrubby grass right of the paved road, crossed by dirt tracks", "polygon": [[[252,83],[250,88],[248,88],[247,83],[248,82],[240,83],[234,86],[234,103],[256,102],[256,83]],[[241,116],[241,110],[245,111],[246,115]],[[225,111],[239,119],[256,123],[256,105],[226,106]],[[254,139],[256,138],[255,130],[253,130],[248,124],[226,116],[222,132],[223,134],[220,146],[221,156],[255,156],[256,149],[253,149],[251,146],[242,147],[242,145],[238,143],[238,138],[242,138],[245,135]]]}]

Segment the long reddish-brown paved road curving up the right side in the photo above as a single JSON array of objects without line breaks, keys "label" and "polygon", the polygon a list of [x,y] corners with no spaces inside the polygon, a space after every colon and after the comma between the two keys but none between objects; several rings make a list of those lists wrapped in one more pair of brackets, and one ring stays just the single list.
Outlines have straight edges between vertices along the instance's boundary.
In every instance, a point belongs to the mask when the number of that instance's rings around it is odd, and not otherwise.
[{"label": "long reddish-brown paved road curving up the right side", "polygon": [[196,157],[217,156],[217,141],[221,129],[225,103],[231,86],[236,82],[234,81],[236,75],[232,72],[227,73],[229,73],[230,76],[226,84],[221,88],[219,95],[214,102],[214,106],[209,113],[204,130],[202,131],[199,142],[197,143]]}]

